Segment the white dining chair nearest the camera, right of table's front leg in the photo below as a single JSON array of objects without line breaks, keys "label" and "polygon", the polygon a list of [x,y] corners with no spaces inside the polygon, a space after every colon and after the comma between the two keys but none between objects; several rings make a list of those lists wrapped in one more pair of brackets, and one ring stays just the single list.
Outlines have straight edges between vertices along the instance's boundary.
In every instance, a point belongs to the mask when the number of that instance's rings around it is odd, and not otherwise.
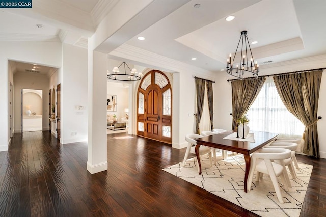
[{"label": "white dining chair nearest the camera, right of table's front leg", "polygon": [[248,191],[251,189],[254,172],[256,171],[256,181],[261,178],[260,173],[265,173],[270,176],[273,183],[277,198],[280,203],[284,203],[281,195],[281,189],[277,181],[277,177],[281,177],[281,182],[284,188],[288,191],[288,180],[284,175],[285,159],[291,157],[291,150],[284,148],[262,148],[260,152],[254,152],[251,156],[251,166],[248,176]]}]

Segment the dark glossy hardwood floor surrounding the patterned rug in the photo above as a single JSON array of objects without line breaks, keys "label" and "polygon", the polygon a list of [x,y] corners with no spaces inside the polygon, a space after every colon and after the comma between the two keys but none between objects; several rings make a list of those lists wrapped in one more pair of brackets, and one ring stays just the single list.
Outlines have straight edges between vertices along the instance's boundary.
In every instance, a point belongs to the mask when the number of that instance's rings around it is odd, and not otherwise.
[{"label": "dark glossy hardwood floor surrounding the patterned rug", "polygon": [[[162,171],[185,149],[107,135],[108,170],[86,170],[87,144],[60,145],[48,131],[15,133],[0,152],[0,216],[256,216]],[[300,216],[326,215],[326,160],[314,165]]]}]

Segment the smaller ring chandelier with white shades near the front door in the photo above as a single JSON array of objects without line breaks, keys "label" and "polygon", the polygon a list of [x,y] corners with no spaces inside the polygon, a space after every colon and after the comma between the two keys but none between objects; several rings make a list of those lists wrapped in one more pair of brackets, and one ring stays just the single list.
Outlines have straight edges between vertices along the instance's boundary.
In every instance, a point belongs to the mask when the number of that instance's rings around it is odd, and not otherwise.
[{"label": "smaller ring chandelier with white shades near the front door", "polygon": [[[119,71],[119,68],[120,66],[122,66],[123,64],[123,68],[124,68],[124,73]],[[126,72],[126,66],[127,66],[127,69],[129,69],[130,72]],[[107,70],[108,71],[108,70]],[[138,75],[136,75],[138,74]],[[140,72],[138,73],[137,72],[137,69],[133,68],[133,69],[130,69],[128,64],[126,62],[122,62],[118,67],[114,67],[113,70],[112,70],[112,73],[107,73],[107,78],[108,79],[111,79],[111,80],[120,80],[120,81],[123,81],[123,82],[134,82],[136,80],[140,80],[141,78],[143,77],[143,73]]]}]

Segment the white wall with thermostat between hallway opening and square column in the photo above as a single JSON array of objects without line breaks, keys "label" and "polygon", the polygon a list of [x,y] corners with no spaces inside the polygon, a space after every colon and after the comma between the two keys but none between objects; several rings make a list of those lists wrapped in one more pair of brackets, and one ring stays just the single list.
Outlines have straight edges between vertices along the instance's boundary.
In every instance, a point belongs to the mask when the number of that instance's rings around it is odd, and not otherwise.
[{"label": "white wall with thermostat between hallway opening and square column", "polygon": [[63,44],[62,71],[60,142],[87,141],[87,49]]}]

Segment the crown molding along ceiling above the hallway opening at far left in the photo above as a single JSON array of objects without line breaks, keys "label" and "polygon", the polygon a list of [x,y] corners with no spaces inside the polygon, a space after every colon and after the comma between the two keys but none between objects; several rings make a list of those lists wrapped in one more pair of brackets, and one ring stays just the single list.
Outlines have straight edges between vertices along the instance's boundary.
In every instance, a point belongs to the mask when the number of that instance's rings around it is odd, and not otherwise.
[{"label": "crown molding along ceiling above the hallway opening at far left", "polygon": [[61,42],[57,35],[0,33],[0,41],[47,41]]}]

